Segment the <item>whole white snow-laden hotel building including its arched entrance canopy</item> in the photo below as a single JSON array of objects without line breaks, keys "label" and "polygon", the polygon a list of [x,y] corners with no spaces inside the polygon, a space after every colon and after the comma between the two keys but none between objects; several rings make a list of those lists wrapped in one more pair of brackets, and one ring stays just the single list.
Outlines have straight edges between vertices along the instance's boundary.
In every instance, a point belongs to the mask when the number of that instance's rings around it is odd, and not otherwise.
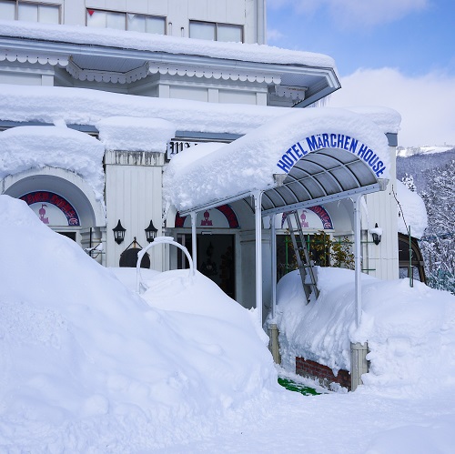
[{"label": "whole white snow-laden hotel building including its arched entrance canopy", "polygon": [[103,266],[173,237],[263,319],[326,241],[399,277],[400,116],[324,106],[335,62],[266,45],[265,0],[0,0],[0,84],[1,193]]}]

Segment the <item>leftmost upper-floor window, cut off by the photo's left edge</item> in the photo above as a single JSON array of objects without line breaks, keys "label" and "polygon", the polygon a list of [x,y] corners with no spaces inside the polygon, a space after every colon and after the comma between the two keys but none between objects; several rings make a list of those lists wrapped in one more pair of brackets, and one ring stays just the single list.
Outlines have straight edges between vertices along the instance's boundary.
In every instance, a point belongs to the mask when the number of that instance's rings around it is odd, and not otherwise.
[{"label": "leftmost upper-floor window, cut off by the photo's left edge", "polygon": [[20,0],[0,0],[0,17],[5,20],[60,24],[60,6]]}]

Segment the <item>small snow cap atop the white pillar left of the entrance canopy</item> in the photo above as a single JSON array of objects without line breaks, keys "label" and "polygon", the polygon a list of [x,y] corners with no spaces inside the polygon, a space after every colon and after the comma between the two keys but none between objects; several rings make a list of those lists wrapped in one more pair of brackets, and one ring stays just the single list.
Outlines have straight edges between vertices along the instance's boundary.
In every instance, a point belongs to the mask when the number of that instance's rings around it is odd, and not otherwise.
[{"label": "small snow cap atop the white pillar left of the entrance canopy", "polygon": [[161,118],[111,116],[96,123],[99,140],[108,150],[164,153],[176,126]]}]

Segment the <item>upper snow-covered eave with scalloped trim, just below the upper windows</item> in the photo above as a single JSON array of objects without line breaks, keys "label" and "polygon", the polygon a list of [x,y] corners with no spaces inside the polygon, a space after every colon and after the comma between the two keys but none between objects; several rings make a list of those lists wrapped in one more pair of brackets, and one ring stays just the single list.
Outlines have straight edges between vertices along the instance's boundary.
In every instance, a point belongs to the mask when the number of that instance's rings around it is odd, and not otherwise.
[{"label": "upper snow-covered eave with scalloped trim, just below the upper windows", "polygon": [[265,83],[279,86],[279,96],[298,88],[298,106],[340,87],[328,55],[86,26],[0,21],[2,60],[66,66],[75,79],[108,84],[159,74]]}]

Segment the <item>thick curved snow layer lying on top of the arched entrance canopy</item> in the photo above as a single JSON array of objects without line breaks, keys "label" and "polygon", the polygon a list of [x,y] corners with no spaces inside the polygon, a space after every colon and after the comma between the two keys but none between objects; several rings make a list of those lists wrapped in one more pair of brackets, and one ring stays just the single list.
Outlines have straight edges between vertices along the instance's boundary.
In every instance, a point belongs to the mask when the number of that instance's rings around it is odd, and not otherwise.
[{"label": "thick curved snow layer lying on top of the arched entrance canopy", "polygon": [[318,136],[317,140],[323,140],[331,135],[358,140],[356,153],[360,144],[367,145],[385,166],[380,177],[389,177],[387,137],[373,121],[345,109],[310,108],[293,110],[196,160],[187,157],[192,148],[183,151],[167,166],[164,197],[182,211],[252,190],[276,187],[273,175],[285,173],[278,162],[291,146],[301,141],[308,151],[307,137]]}]

